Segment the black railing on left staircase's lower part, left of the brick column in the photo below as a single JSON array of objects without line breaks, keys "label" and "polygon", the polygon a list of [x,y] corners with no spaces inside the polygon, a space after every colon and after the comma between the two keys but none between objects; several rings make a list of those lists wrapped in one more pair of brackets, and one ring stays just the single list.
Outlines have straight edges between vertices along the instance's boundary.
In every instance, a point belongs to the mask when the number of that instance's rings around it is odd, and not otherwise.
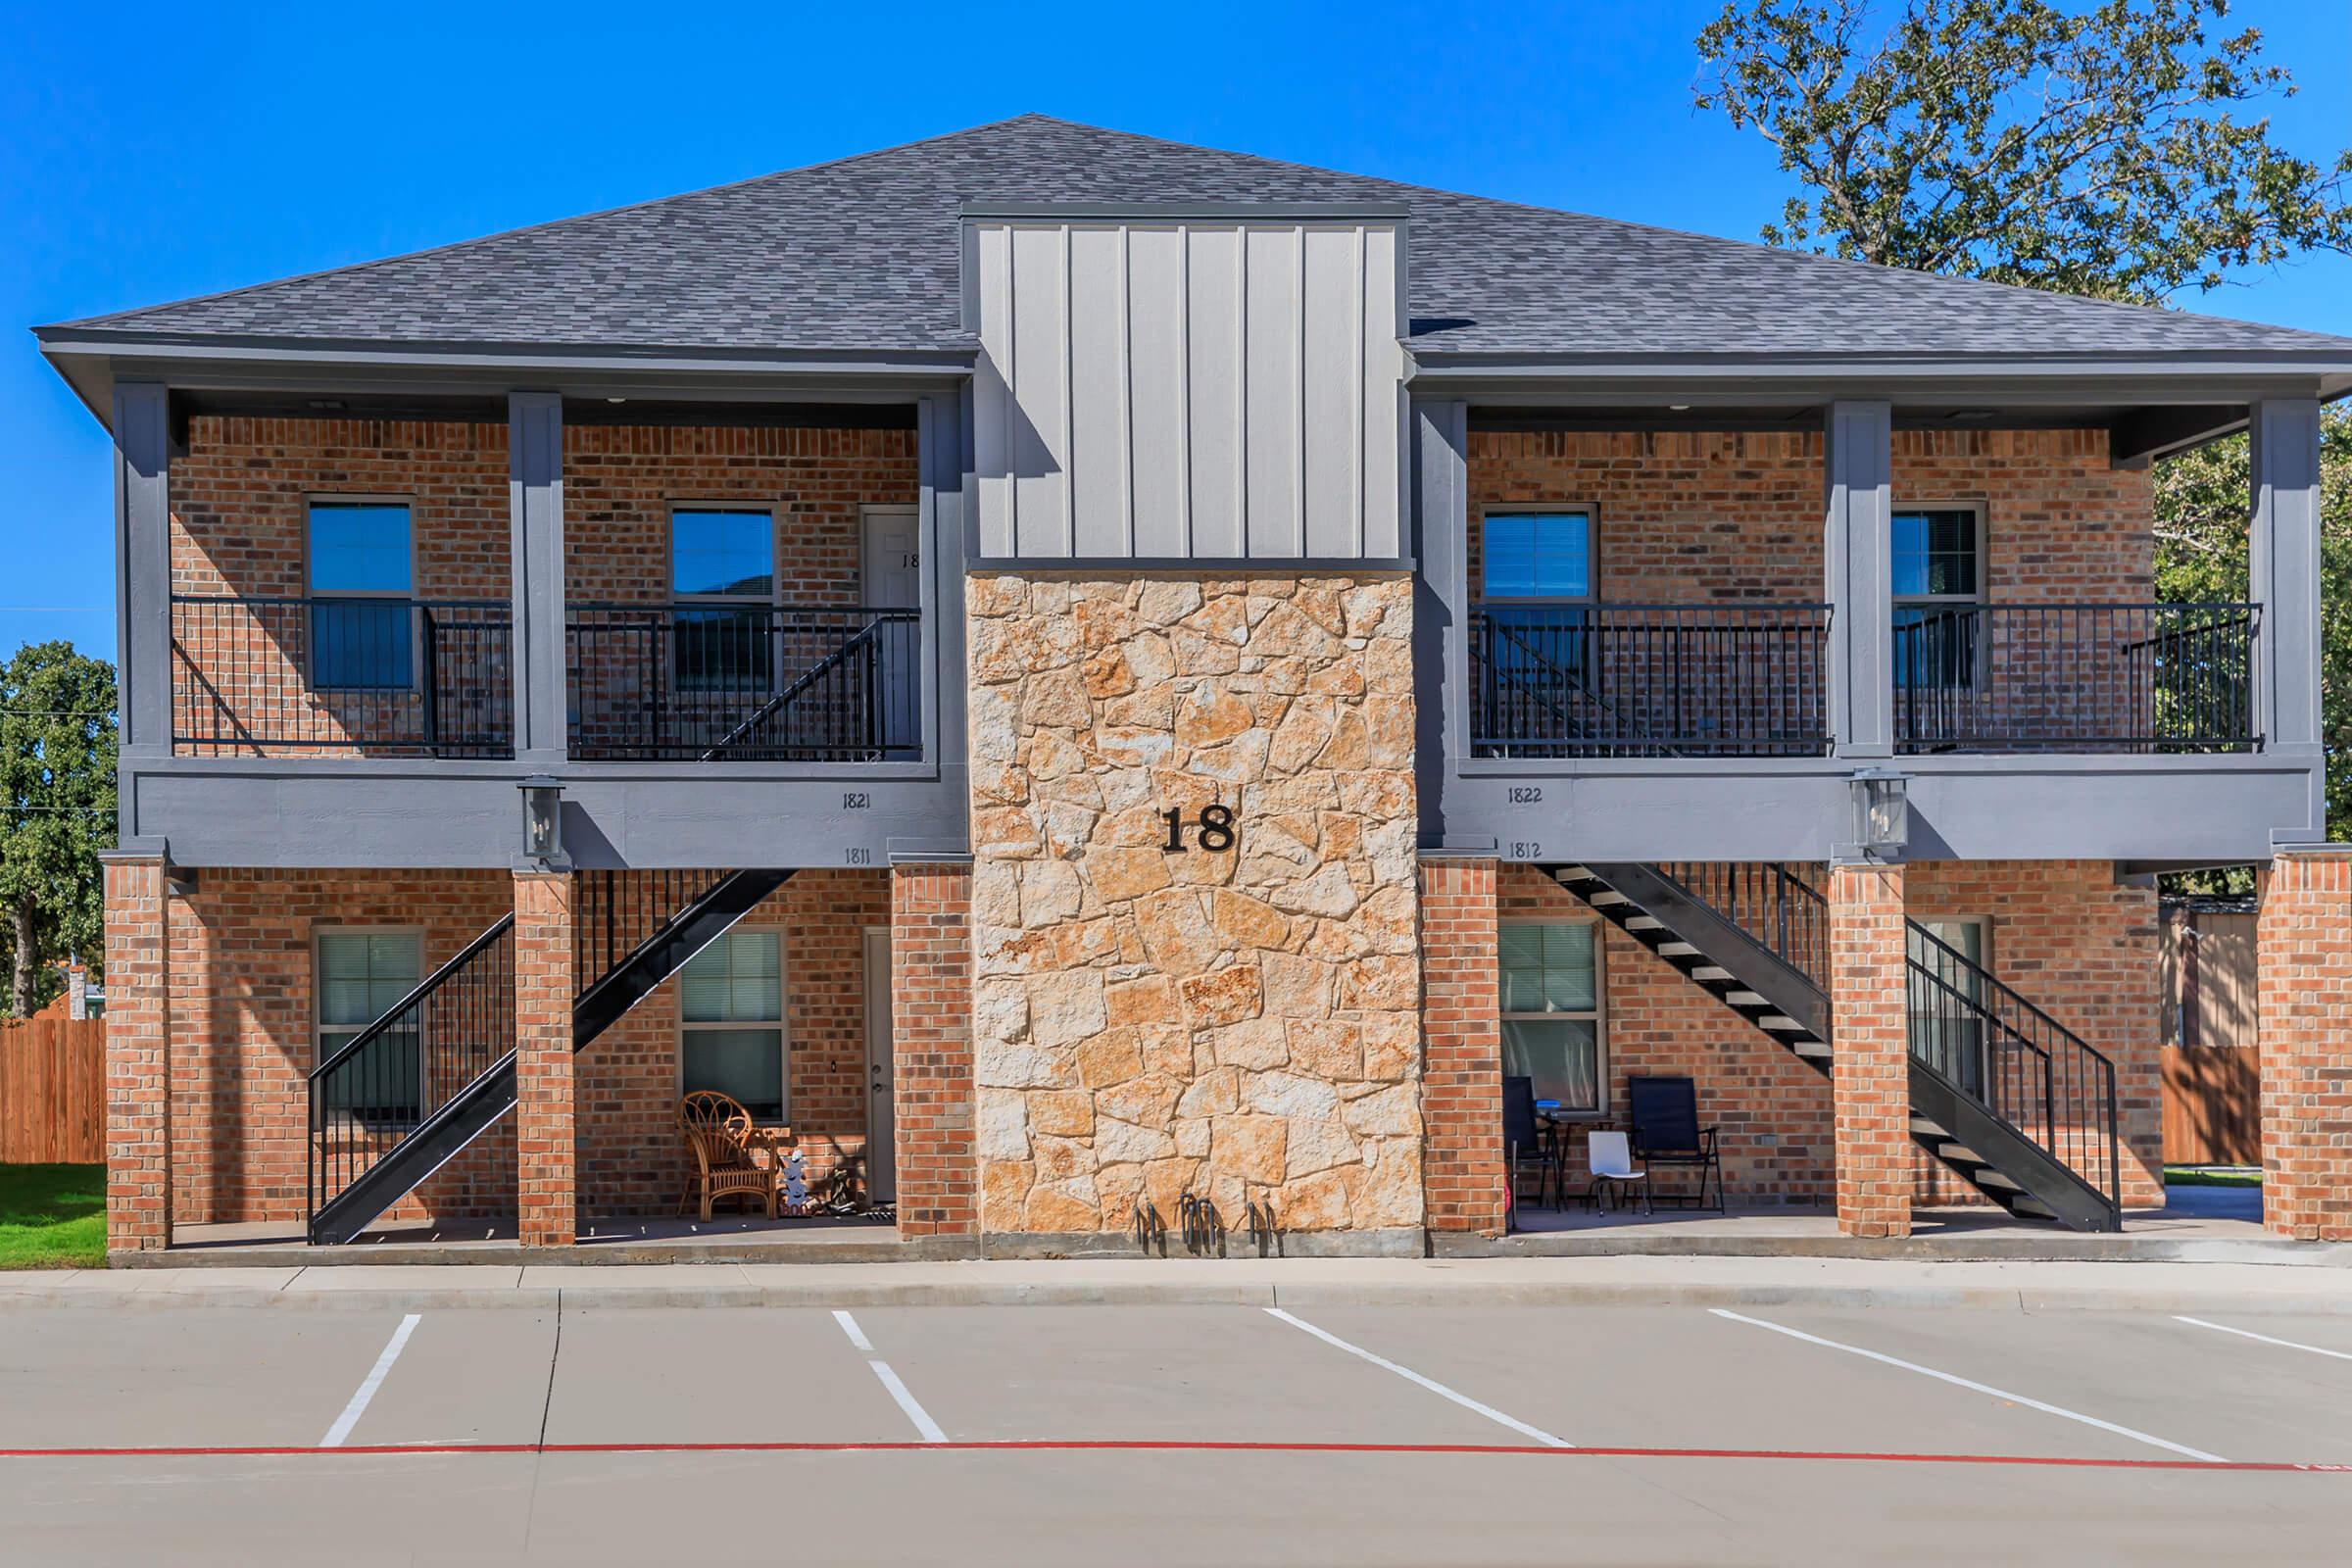
[{"label": "black railing on left staircase's lower part, left of the brick column", "polygon": [[[510,1074],[513,1053],[515,917],[503,914],[310,1070],[306,1190],[313,1239],[322,1222],[336,1227],[339,1239],[358,1232],[430,1175],[430,1166],[402,1173],[388,1197],[374,1192],[383,1180],[369,1180],[480,1081],[501,1067]],[[369,1213],[339,1213],[374,1197],[381,1204]]]}]

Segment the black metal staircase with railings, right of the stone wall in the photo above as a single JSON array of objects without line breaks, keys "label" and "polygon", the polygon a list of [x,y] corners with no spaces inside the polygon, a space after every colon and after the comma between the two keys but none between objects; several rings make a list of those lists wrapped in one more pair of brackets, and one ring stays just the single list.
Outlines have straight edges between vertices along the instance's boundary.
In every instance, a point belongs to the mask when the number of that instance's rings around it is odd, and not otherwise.
[{"label": "black metal staircase with railings, right of the stone wall", "polygon": [[[1557,882],[1823,1077],[1828,905],[1785,865],[1564,865]],[[2122,1229],[2114,1065],[1907,924],[1910,1133],[2027,1220]]]}]

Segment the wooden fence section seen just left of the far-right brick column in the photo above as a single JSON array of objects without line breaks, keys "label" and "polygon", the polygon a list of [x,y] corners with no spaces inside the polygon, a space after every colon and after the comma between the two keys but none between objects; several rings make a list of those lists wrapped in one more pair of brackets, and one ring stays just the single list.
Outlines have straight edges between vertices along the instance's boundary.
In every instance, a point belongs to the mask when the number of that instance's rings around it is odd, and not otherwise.
[{"label": "wooden fence section seen just left of the far-right brick column", "polygon": [[2164,907],[2164,1164],[2263,1164],[2253,912]]}]

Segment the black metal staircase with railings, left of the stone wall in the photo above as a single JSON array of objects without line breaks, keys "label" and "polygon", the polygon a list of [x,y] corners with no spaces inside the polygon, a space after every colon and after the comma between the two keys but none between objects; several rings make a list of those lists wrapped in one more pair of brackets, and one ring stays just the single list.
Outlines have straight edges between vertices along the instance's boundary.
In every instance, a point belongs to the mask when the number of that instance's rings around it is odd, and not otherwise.
[{"label": "black metal staircase with railings, left of the stone wall", "polygon": [[[581,872],[581,1051],[793,872]],[[628,877],[623,882],[623,877]],[[515,1110],[515,917],[435,969],[310,1072],[308,1239],[350,1241]]]}]

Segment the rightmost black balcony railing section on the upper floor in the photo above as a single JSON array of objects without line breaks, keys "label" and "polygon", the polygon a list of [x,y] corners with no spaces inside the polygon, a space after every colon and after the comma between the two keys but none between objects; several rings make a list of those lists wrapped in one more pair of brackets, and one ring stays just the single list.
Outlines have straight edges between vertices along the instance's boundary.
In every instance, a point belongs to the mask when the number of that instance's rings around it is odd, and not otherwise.
[{"label": "rightmost black balcony railing section on the upper floor", "polygon": [[2256,604],[1898,607],[1903,752],[2241,752]]}]

